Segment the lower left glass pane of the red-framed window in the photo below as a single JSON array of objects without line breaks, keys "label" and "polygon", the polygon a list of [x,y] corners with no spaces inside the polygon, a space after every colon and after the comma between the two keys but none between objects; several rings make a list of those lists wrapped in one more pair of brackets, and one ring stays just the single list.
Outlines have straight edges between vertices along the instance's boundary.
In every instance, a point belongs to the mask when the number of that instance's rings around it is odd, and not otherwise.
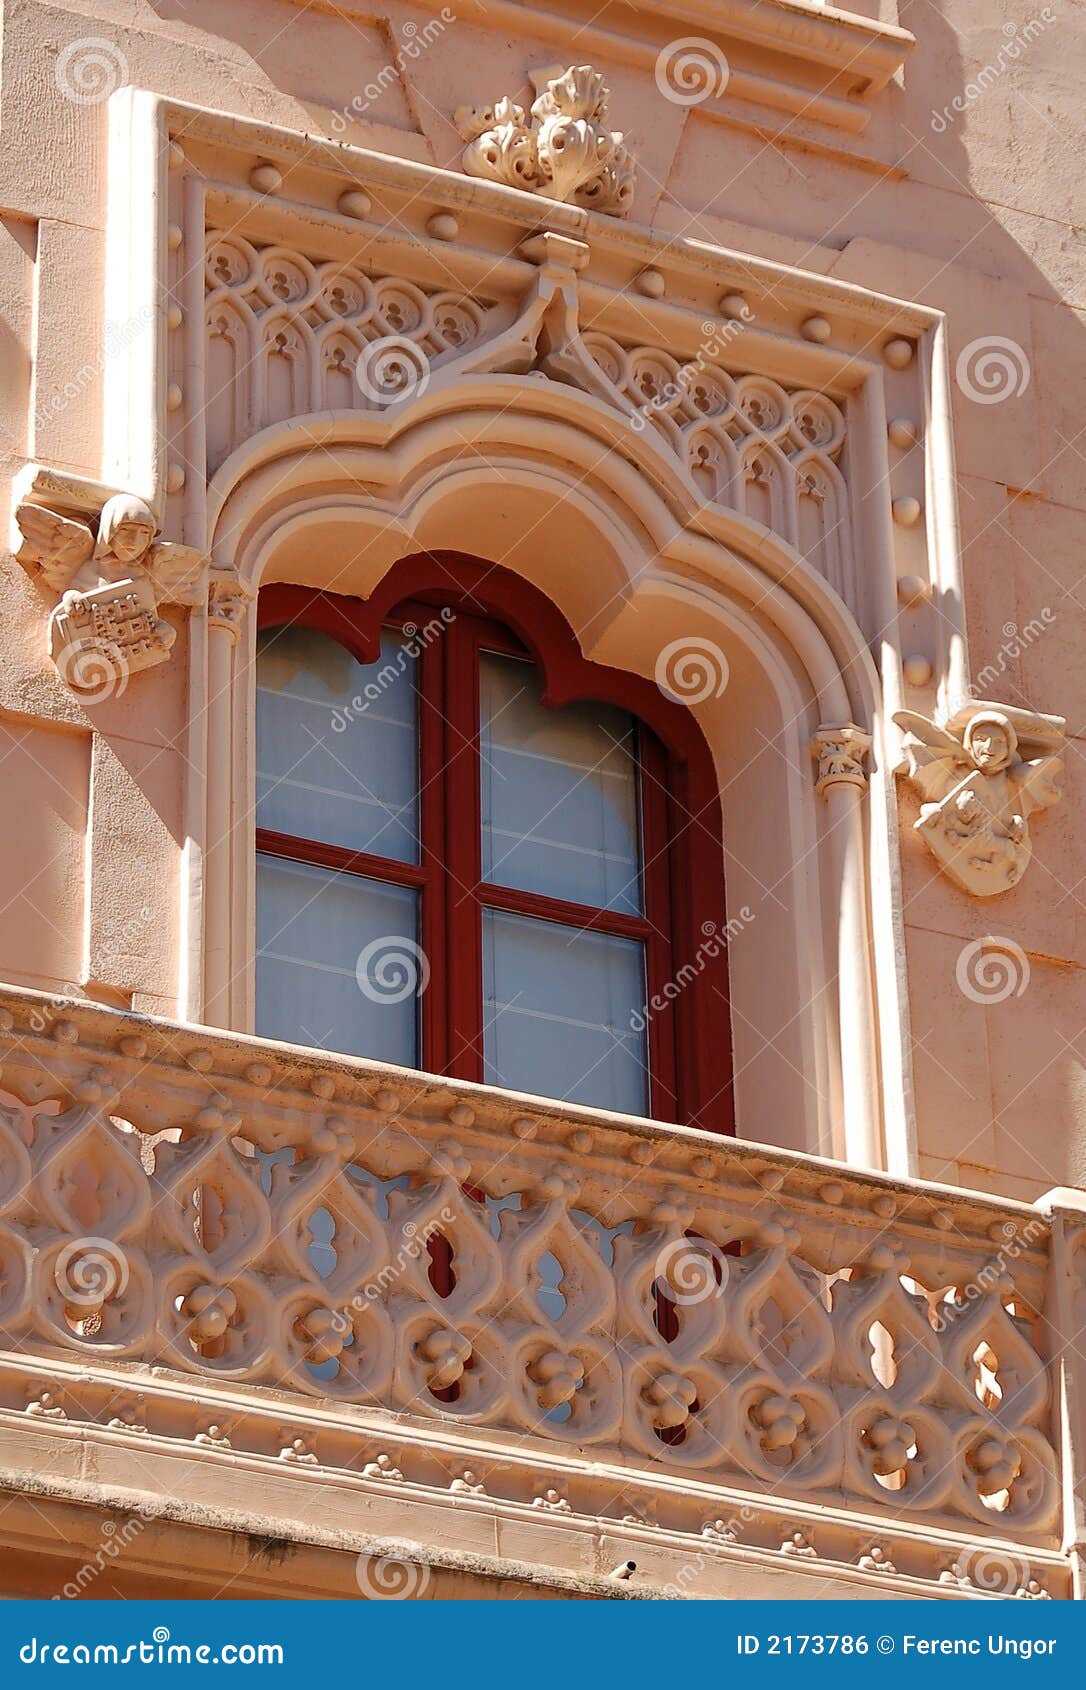
[{"label": "lower left glass pane of the red-framed window", "polygon": [[257,857],[257,1033],[348,1056],[419,1061],[417,894]]}]

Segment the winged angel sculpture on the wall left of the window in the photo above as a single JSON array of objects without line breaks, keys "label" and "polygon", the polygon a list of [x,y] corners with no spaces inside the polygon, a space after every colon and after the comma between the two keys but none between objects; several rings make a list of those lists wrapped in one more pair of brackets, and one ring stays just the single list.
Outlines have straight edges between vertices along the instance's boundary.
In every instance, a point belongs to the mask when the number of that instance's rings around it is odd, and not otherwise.
[{"label": "winged angel sculpture on the wall left of the window", "polygon": [[157,541],[142,499],[117,493],[98,521],[47,505],[15,510],[19,563],[61,595],[49,617],[49,656],[78,693],[122,693],[130,674],[166,662],[177,637],[160,615],[167,603],[196,603],[206,558],[193,546]]}]

